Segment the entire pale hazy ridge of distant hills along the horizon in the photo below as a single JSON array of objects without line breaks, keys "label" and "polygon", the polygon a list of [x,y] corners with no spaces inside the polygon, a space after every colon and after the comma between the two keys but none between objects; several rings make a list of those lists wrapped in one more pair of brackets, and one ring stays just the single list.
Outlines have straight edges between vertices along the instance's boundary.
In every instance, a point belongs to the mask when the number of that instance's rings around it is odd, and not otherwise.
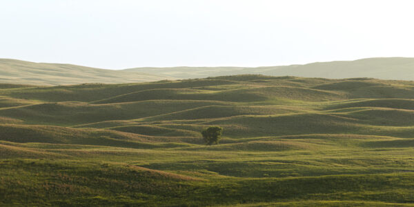
[{"label": "entire pale hazy ridge of distant hills along the horizon", "polygon": [[132,83],[162,79],[194,79],[224,75],[272,75],[346,79],[370,77],[414,81],[414,58],[378,57],[355,61],[316,62],[268,67],[171,67],[106,70],[70,64],[34,63],[0,59],[0,83],[70,85],[79,83]]}]

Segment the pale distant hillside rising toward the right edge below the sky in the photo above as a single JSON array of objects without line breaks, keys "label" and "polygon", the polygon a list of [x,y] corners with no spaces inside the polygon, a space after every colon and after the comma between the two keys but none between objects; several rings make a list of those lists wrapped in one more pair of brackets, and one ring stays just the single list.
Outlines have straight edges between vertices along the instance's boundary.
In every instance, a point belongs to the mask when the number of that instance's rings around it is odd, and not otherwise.
[{"label": "pale distant hillside rising toward the right edge below the sky", "polygon": [[356,61],[332,61],[306,65],[270,66],[259,68],[237,67],[175,67],[175,68],[132,68],[126,71],[148,72],[167,75],[177,79],[214,77],[217,75],[261,74],[275,76],[323,77],[344,79],[372,77],[377,79],[414,80],[414,58],[384,57],[359,59]]}]

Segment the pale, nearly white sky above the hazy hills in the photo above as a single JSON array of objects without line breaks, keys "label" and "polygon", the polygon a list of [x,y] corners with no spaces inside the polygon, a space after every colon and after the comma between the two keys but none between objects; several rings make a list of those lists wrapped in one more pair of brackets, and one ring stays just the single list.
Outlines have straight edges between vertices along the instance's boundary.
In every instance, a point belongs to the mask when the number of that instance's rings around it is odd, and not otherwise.
[{"label": "pale, nearly white sky above the hazy hills", "polygon": [[0,0],[0,58],[95,68],[414,57],[414,1]]}]

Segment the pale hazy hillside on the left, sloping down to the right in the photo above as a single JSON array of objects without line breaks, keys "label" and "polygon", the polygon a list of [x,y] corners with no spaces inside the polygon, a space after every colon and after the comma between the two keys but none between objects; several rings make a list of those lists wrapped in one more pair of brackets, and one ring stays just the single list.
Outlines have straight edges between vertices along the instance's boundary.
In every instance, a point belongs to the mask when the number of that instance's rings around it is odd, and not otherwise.
[{"label": "pale hazy hillside on the left, sloping down to the right", "polygon": [[68,85],[78,83],[131,83],[167,79],[144,72],[104,70],[69,64],[33,63],[0,59],[0,83]]}]

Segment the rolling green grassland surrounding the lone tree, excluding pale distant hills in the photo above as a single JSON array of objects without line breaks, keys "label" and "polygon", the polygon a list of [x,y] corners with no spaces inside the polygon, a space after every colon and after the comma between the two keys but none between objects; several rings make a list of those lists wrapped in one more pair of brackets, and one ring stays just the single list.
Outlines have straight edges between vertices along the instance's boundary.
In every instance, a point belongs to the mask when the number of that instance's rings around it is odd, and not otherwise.
[{"label": "rolling green grassland surrounding the lone tree, excluding pale distant hills", "polygon": [[367,78],[3,84],[0,206],[414,206],[413,103]]}]

